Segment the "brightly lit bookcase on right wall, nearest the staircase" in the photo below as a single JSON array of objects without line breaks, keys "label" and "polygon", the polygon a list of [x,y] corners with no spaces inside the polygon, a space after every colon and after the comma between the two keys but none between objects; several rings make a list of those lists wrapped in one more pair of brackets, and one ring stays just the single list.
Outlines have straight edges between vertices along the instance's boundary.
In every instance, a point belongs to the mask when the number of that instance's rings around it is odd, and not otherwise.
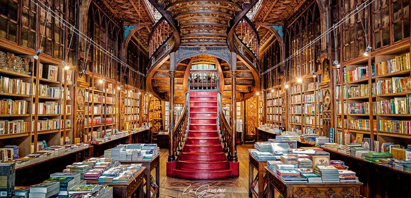
[{"label": "brightly lit bookcase on right wall, nearest the staircase", "polygon": [[275,86],[272,89],[266,91],[266,114],[267,123],[272,124],[275,128],[282,127],[282,100],[280,97],[282,93],[280,86]]}]

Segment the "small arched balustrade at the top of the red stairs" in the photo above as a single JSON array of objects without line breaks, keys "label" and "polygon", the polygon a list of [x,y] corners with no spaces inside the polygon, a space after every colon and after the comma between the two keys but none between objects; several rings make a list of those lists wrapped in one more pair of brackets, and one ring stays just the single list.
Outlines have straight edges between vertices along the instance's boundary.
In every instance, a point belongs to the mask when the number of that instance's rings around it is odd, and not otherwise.
[{"label": "small arched balustrade at the top of the red stairs", "polygon": [[190,71],[192,90],[217,89],[217,70]]}]

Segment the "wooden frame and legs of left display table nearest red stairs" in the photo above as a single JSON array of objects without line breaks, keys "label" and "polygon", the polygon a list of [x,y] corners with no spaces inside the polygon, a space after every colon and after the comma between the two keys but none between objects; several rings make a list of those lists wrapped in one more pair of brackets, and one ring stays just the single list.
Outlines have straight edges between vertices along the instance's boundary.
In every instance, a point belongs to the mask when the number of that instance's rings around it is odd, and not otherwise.
[{"label": "wooden frame and legs of left display table nearest red stairs", "polygon": [[[145,167],[145,191],[146,198],[156,196],[160,197],[160,154],[151,159],[151,161],[119,161],[121,164],[143,164]],[[157,184],[157,190],[154,191],[153,196],[150,196],[150,183],[151,183],[151,171],[155,168],[155,183]]]}]

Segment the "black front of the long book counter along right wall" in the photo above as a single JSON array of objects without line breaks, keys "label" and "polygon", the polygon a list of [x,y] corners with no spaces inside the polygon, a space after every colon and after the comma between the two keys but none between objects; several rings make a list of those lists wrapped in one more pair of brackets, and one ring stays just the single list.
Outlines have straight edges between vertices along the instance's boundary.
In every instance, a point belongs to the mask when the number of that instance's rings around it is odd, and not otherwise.
[{"label": "black front of the long book counter along right wall", "polygon": [[351,155],[322,148],[330,153],[330,159],[342,160],[351,171],[358,173],[364,183],[360,195],[364,197],[403,197],[410,191],[411,173],[368,162]]}]

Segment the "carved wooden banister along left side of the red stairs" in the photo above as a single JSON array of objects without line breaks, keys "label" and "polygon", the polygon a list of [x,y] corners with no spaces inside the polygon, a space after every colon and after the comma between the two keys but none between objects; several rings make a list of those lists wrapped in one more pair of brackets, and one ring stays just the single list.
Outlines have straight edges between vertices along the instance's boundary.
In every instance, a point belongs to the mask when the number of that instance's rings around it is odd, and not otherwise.
[{"label": "carved wooden banister along left side of the red stairs", "polygon": [[[188,86],[190,86],[190,81],[188,81]],[[181,112],[181,116],[178,119],[175,127],[173,129],[173,133],[171,134],[170,141],[173,142],[173,148],[171,149],[171,157],[169,156],[169,162],[174,162],[180,156],[182,148],[184,147],[184,143],[187,139],[188,128],[190,125],[190,90],[186,92],[185,95],[185,103],[184,107]]]}]

